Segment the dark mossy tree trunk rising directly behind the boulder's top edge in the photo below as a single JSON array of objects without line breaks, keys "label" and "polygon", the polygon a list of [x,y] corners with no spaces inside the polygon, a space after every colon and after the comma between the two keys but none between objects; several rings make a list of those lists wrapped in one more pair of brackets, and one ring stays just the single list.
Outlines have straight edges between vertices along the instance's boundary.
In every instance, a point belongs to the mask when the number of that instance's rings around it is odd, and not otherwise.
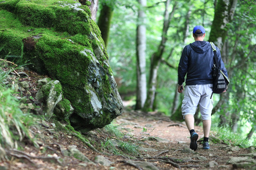
[{"label": "dark mossy tree trunk rising directly behind the boulder's top edge", "polygon": [[100,16],[98,19],[98,27],[101,30],[102,39],[105,42],[105,47],[108,46],[109,29],[113,15],[113,7],[108,6],[106,3],[102,5]]}]

